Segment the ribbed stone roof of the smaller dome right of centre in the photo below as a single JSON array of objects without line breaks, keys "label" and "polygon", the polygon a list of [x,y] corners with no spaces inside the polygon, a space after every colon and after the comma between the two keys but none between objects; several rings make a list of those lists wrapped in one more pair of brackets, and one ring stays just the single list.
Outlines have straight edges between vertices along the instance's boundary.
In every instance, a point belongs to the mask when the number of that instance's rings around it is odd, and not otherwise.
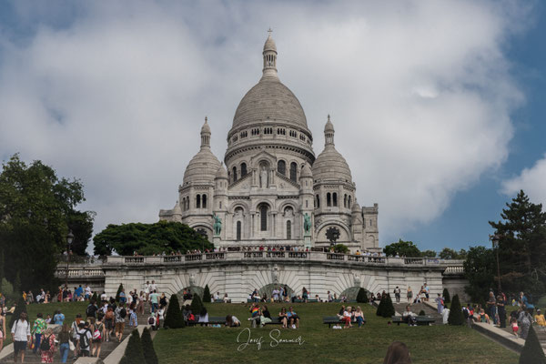
[{"label": "ribbed stone roof of the smaller dome right of centre", "polygon": [[347,161],[332,144],[327,145],[313,163],[313,178],[352,183]]}]

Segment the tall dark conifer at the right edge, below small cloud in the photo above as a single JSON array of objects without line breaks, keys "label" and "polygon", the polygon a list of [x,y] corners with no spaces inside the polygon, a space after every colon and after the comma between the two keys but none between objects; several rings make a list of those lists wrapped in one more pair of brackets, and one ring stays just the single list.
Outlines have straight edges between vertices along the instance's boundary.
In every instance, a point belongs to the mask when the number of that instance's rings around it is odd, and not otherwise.
[{"label": "tall dark conifer at the right edge, below small cloud", "polygon": [[501,283],[507,291],[546,291],[546,213],[521,190],[502,209],[501,221],[490,221],[499,240]]}]

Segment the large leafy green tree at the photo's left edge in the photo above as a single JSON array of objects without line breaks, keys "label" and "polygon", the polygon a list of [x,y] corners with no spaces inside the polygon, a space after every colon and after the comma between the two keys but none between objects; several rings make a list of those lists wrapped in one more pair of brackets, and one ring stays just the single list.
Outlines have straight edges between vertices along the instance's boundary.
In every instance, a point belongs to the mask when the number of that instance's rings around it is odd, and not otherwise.
[{"label": "large leafy green tree at the photo's left edge", "polygon": [[85,201],[79,180],[57,177],[40,161],[27,165],[18,155],[2,165],[0,173],[0,250],[4,274],[21,287],[56,286],[56,256],[66,250],[67,222]]}]

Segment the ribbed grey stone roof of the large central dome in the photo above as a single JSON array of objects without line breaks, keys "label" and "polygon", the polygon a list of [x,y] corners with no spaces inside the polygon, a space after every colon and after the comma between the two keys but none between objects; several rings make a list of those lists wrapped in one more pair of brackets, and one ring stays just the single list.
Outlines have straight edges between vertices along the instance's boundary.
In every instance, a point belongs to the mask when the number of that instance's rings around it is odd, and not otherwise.
[{"label": "ribbed grey stone roof of the large central dome", "polygon": [[257,121],[283,121],[307,129],[307,118],[298,98],[278,78],[262,78],[238,105],[232,128]]}]

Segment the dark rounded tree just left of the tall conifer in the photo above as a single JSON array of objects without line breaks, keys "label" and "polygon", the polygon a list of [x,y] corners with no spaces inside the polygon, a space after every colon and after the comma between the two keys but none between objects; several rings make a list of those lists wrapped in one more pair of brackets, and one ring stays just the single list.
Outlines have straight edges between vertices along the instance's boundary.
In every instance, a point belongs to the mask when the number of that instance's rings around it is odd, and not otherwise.
[{"label": "dark rounded tree just left of the tall conifer", "polygon": [[485,247],[470,248],[463,267],[465,278],[470,284],[464,288],[465,292],[473,302],[484,302],[489,297],[490,288],[495,283],[493,279],[495,267],[493,251]]}]

